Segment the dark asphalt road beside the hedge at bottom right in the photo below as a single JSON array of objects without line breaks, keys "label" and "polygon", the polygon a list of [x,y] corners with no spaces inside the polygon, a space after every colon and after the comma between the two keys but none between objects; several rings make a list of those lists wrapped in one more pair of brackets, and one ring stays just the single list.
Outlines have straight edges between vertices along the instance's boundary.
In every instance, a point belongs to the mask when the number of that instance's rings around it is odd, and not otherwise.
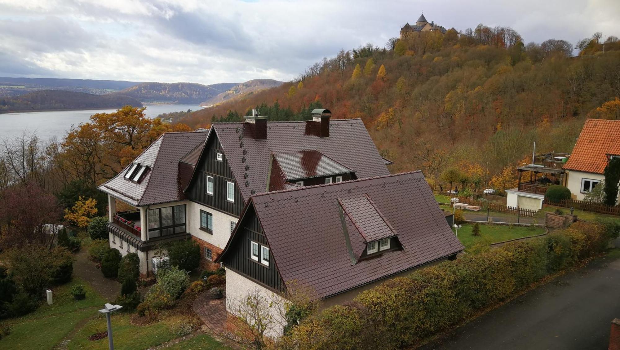
[{"label": "dark asphalt road beside the hedge at bottom right", "polygon": [[607,349],[620,318],[620,259],[601,258],[422,349]]}]

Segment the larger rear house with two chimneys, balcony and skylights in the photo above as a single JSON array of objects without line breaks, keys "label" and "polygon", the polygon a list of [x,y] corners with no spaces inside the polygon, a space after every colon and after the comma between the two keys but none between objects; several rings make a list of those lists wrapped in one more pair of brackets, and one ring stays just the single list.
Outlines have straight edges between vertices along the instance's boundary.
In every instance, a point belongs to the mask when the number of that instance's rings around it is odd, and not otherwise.
[{"label": "larger rear house with two chimneys, balcony and skylights", "polygon": [[[136,251],[148,275],[164,243],[192,239],[200,267],[216,269],[251,195],[389,174],[360,119],[330,117],[315,109],[312,120],[268,122],[253,113],[209,130],[165,133],[99,186],[108,194],[110,246]],[[117,212],[117,201],[131,210]]]}]

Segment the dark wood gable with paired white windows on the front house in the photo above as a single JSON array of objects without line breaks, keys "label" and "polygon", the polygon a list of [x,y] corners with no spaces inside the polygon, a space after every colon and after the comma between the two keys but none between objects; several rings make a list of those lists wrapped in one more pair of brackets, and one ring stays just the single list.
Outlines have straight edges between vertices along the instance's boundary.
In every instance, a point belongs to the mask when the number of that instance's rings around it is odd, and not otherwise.
[{"label": "dark wood gable with paired white windows on the front house", "polygon": [[[237,230],[234,240],[232,240],[228,247],[228,253],[226,253],[226,258],[223,261],[224,265],[272,289],[282,290],[283,281],[280,277],[280,272],[278,272],[278,268],[275,266],[271,248],[267,244],[267,239],[265,239],[263,229],[260,227],[259,219],[254,212],[254,207],[251,205]],[[250,258],[250,241],[255,241],[259,245],[270,248],[269,267]]]}]

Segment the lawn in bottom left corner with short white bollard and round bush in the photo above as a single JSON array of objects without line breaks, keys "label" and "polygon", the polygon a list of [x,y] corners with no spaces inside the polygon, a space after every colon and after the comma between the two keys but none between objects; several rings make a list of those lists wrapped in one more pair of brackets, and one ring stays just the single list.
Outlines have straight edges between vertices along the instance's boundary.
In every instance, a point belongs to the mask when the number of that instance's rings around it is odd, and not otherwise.
[{"label": "lawn in bottom left corner with short white bollard and round bush", "polygon": [[[86,299],[73,299],[69,291],[76,284],[84,285]],[[11,334],[0,340],[0,349],[52,349],[104,305],[91,286],[77,278],[53,289],[53,301],[28,315],[4,320],[2,325],[11,326]]]}]

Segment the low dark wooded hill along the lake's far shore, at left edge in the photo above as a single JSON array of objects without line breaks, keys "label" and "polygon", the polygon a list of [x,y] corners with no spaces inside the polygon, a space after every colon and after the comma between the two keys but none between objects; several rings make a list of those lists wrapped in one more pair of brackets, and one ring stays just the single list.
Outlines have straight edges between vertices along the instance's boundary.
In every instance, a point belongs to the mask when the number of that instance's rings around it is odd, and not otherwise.
[{"label": "low dark wooded hill along the lake's far shore, at left edge", "polygon": [[120,94],[94,95],[84,92],[42,90],[15,97],[0,97],[0,112],[55,109],[142,107],[138,99]]}]

